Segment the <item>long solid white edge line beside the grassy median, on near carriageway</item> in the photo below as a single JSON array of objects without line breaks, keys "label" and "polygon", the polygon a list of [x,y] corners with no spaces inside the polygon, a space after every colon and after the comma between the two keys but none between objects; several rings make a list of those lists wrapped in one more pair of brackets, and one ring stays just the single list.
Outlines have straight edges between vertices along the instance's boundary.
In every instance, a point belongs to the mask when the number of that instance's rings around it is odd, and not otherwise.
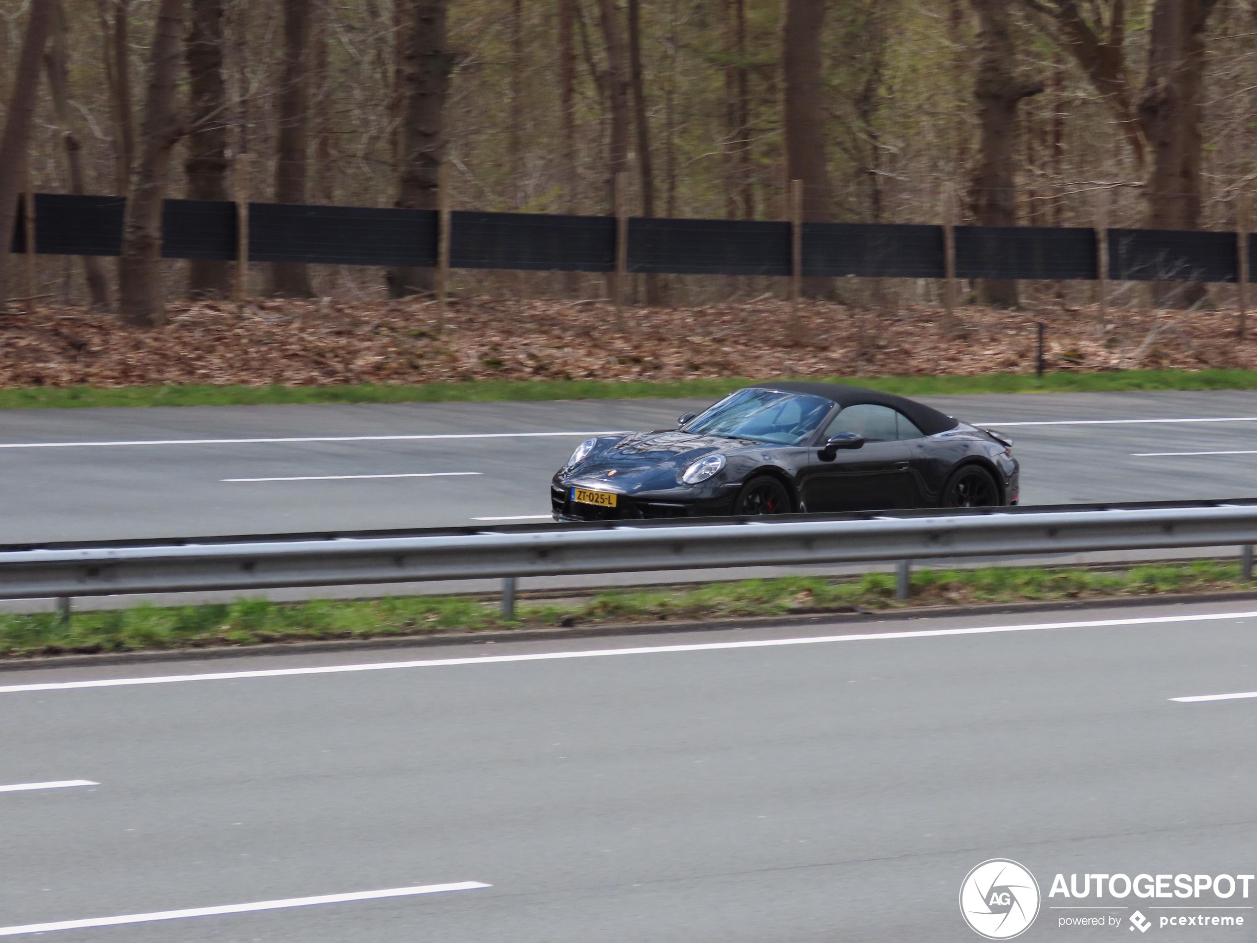
[{"label": "long solid white edge line beside the grassy median, on near carriageway", "polygon": [[[44,681],[9,684],[0,694],[36,690],[68,690],[70,688],[126,688],[140,684],[178,684],[181,681],[229,681],[244,678],[287,678],[307,674],[343,674],[347,671],[388,671],[401,668],[450,668],[454,665],[495,665],[509,661],[559,661],[573,658],[610,658],[612,655],[662,655],[678,651],[723,651],[729,649],[776,649],[786,645],[820,645],[843,641],[889,641],[894,639],[940,639],[953,635],[996,635],[1001,632],[1033,632],[1051,629],[1102,629],[1124,625],[1169,625],[1174,622],[1217,622],[1228,619],[1257,619],[1257,611],[1219,612],[1184,616],[1148,616],[1144,619],[1099,619],[1085,622],[1036,622],[1029,625],[988,625],[975,629],[921,629],[911,632],[865,632],[861,635],[818,635],[803,639],[766,639],[758,641],[714,641],[696,645],[654,645],[636,649],[591,649],[587,651],[543,651],[533,655],[481,655],[478,658],[422,659],[417,661],[368,661],[357,665],[319,665],[317,668],[272,668],[254,671],[214,671],[207,674],[172,674],[152,678],[102,678],[94,681]],[[468,641],[473,641],[469,637]]]}]

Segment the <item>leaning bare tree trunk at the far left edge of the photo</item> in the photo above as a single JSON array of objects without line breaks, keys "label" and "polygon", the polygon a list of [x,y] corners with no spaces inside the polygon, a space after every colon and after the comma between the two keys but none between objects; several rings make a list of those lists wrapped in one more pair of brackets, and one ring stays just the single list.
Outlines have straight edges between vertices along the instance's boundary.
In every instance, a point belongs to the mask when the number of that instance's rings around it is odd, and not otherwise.
[{"label": "leaning bare tree trunk at the far left edge of the photo", "polygon": [[5,308],[5,273],[9,265],[9,240],[18,218],[18,190],[35,119],[35,93],[39,89],[39,64],[53,29],[53,0],[31,0],[26,35],[21,40],[18,72],[9,99],[9,112],[0,137],[0,313]]}]

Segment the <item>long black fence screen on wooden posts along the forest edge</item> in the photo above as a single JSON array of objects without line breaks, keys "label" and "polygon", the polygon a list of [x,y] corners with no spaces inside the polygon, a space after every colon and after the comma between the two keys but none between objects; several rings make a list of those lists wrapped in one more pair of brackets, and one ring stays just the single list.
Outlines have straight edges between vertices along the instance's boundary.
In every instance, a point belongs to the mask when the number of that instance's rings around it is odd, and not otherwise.
[{"label": "long black fence screen on wooden posts along the forest edge", "polygon": [[[118,196],[35,195],[35,251],[117,255],[126,200]],[[231,202],[167,200],[162,256],[234,259]],[[958,278],[1095,279],[1092,229],[957,226]],[[333,265],[436,264],[432,210],[357,206],[249,205],[250,262]],[[1114,280],[1236,282],[1234,233],[1110,229]],[[19,219],[11,250],[25,251]],[[612,272],[616,221],[611,216],[525,212],[454,212],[450,267],[541,272]],[[1257,239],[1248,240],[1249,270]],[[696,219],[628,220],[628,270],[700,275],[789,275],[788,223]],[[943,226],[804,223],[804,275],[944,278]]]}]

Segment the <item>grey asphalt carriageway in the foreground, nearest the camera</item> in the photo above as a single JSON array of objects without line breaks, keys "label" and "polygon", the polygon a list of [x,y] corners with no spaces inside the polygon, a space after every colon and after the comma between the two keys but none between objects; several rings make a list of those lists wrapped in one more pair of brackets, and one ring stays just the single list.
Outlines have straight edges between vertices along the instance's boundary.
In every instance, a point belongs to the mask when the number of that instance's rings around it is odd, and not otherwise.
[{"label": "grey asphalt carriageway in the foreground, nearest the camera", "polygon": [[[1184,902],[1061,929],[1053,875],[1253,873],[1257,698],[1172,700],[1257,690],[1243,602],[799,634],[3,671],[0,935],[977,940],[962,879],[1011,858],[1021,939],[1130,940]],[[1252,939],[1226,913],[1151,935]]]}]

